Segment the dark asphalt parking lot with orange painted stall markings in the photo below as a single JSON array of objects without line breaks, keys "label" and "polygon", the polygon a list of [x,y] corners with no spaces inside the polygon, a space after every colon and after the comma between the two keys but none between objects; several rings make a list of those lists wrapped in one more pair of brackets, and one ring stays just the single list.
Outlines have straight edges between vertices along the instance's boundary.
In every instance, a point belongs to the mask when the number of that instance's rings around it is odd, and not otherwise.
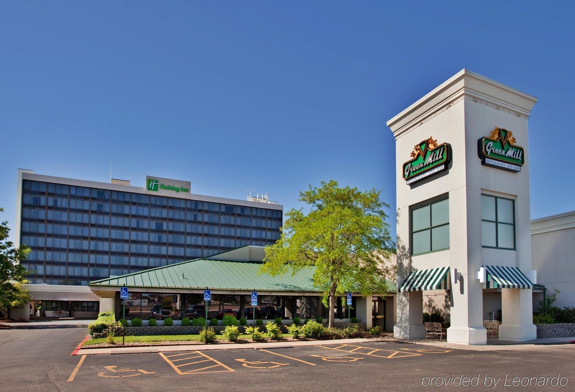
[{"label": "dark asphalt parking lot with orange painted stall markings", "polygon": [[[0,390],[420,390],[423,377],[568,379],[575,390],[575,345],[467,351],[409,343],[321,344],[269,350],[208,350],[71,356],[85,328],[0,331]],[[424,380],[424,383],[427,381]],[[460,390],[461,386],[427,386]],[[470,386],[468,386],[470,387]],[[517,386],[520,387],[520,386]],[[545,390],[545,387],[520,387]]]}]

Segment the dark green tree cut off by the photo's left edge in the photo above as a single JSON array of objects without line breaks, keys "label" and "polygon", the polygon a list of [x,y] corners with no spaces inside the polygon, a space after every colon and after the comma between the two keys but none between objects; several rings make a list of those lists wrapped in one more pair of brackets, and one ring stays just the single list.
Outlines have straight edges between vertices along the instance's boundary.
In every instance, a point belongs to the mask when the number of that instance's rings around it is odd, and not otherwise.
[{"label": "dark green tree cut off by the photo's left edge", "polygon": [[[0,208],[0,212],[3,211]],[[24,278],[28,271],[20,264],[30,248],[25,245],[15,248],[7,240],[9,231],[8,222],[0,223],[0,312],[8,318],[10,309],[22,308],[30,300],[30,294],[23,286],[28,283]]]}]

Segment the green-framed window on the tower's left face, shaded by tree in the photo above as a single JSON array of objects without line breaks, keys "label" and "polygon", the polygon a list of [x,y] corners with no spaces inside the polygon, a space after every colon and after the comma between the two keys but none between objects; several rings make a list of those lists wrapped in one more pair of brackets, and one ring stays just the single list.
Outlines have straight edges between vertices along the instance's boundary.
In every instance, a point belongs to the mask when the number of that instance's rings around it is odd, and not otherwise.
[{"label": "green-framed window on the tower's left face, shaded by tree", "polygon": [[449,199],[411,211],[412,254],[449,249]]}]

